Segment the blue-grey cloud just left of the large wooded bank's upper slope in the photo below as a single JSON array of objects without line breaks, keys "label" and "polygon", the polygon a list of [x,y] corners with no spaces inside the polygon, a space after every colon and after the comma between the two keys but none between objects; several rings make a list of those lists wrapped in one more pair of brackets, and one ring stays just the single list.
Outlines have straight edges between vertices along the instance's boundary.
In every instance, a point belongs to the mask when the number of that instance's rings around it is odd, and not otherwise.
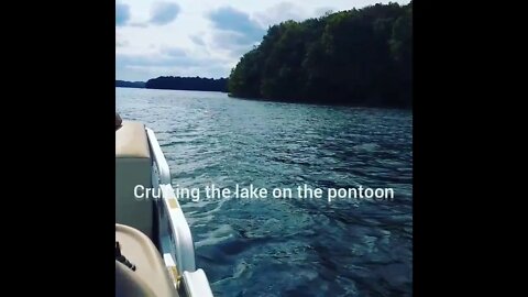
[{"label": "blue-grey cloud just left of the large wooded bank's upper slope", "polygon": [[250,51],[266,33],[248,13],[231,7],[217,9],[210,12],[208,18],[215,29],[212,32],[215,46],[228,51],[231,56]]}]

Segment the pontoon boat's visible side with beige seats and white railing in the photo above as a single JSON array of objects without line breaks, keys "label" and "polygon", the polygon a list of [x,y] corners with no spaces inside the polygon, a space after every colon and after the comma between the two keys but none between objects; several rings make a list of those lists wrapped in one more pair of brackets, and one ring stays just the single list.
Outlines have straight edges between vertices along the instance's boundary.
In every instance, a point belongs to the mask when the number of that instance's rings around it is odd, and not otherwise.
[{"label": "pontoon boat's visible side with beige seats and white railing", "polygon": [[[138,186],[160,198],[139,197]],[[116,296],[212,297],[167,161],[154,132],[135,121],[116,131]]]}]

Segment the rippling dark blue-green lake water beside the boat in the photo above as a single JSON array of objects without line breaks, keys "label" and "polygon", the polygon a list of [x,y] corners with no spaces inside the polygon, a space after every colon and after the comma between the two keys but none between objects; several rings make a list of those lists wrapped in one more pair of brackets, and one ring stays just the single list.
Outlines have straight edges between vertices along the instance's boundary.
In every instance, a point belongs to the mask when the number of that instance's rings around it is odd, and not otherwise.
[{"label": "rippling dark blue-green lake water beside the boat", "polygon": [[[411,296],[413,113],[262,102],[226,94],[116,89],[124,120],[152,128],[216,296]],[[205,187],[268,189],[206,199]],[[321,198],[273,198],[273,188]],[[334,199],[329,188],[392,188]],[[286,193],[287,194],[287,193]]]}]

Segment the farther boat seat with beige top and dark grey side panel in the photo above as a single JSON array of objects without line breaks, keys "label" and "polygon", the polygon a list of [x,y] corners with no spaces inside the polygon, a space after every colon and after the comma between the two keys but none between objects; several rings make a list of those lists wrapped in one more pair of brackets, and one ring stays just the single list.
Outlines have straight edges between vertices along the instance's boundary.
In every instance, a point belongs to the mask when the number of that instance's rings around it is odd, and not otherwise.
[{"label": "farther boat seat with beige top and dark grey side panel", "polygon": [[134,188],[152,187],[152,157],[144,124],[123,121],[116,131],[116,223],[153,238],[154,200],[136,199]]}]

